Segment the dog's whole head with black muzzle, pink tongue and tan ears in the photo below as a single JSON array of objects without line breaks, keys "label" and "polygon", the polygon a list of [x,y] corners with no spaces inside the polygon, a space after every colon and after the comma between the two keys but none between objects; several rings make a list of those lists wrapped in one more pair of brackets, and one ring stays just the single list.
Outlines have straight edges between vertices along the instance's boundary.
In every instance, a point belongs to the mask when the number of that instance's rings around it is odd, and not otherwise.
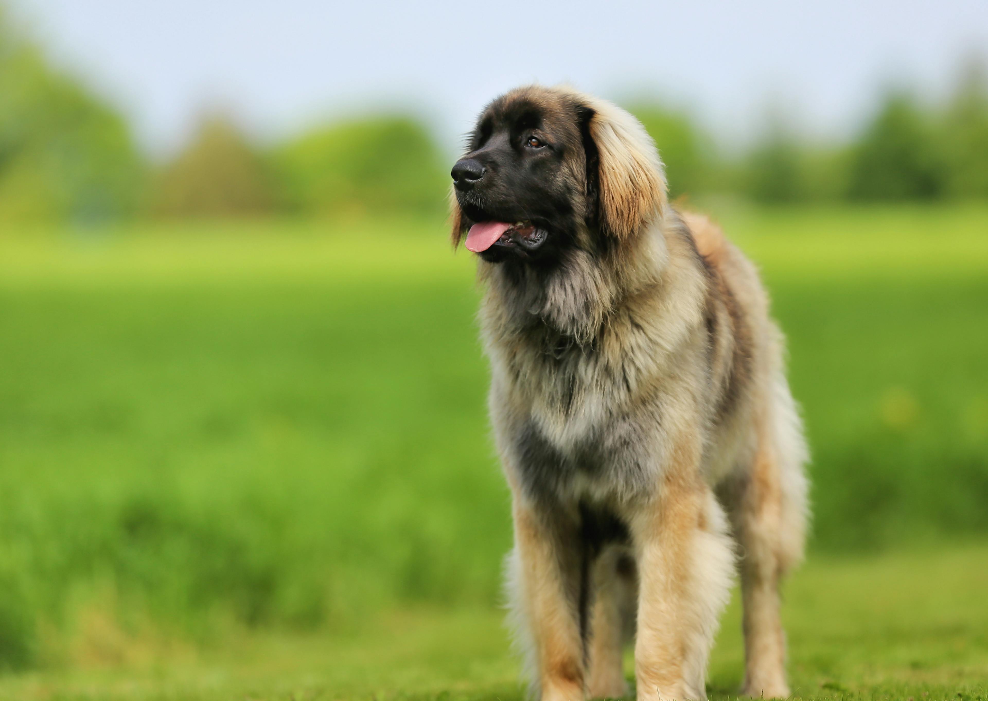
[{"label": "dog's whole head with black muzzle, pink tongue and tan ears", "polygon": [[550,266],[567,251],[632,239],[666,207],[658,153],[641,124],[569,88],[494,100],[453,165],[453,244],[492,263]]}]

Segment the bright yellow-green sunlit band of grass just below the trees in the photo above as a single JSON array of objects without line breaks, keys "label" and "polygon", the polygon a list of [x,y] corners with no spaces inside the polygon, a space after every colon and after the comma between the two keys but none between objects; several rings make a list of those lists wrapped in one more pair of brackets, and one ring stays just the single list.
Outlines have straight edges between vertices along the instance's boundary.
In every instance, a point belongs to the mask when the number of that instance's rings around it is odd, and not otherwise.
[{"label": "bright yellow-green sunlit band of grass just below the trees", "polygon": [[[700,208],[695,208],[700,209]],[[957,277],[988,267],[988,208],[711,208],[771,275]],[[179,222],[0,231],[0,284],[436,283],[472,277],[443,219]]]}]

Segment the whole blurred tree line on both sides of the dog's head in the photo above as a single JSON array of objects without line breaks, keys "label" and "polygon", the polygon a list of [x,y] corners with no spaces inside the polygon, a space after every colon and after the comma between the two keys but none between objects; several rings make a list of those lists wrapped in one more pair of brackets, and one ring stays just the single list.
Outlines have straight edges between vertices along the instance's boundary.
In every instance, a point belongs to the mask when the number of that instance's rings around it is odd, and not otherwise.
[{"label": "whole blurred tree line on both sides of the dog's head", "polygon": [[[770,120],[740,154],[715,148],[689,114],[630,105],[655,139],[673,198],[735,193],[769,204],[988,199],[988,71],[970,61],[941,105],[888,92],[843,143],[813,143]],[[0,11],[0,222],[131,216],[439,216],[452,154],[408,115],[317,125],[259,144],[207,117],[152,166],[124,118],[4,24]]]}]

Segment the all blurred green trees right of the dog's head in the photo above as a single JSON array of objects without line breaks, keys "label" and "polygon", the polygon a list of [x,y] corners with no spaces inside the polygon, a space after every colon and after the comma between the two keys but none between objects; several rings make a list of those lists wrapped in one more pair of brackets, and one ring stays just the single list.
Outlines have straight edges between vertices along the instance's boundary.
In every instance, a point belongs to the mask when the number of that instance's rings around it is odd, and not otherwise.
[{"label": "all blurred green trees right of the dog's head", "polygon": [[[644,106],[642,106],[644,105]],[[683,113],[632,102],[670,193],[731,192],[766,204],[988,198],[988,70],[971,60],[946,104],[887,92],[848,142],[814,143],[778,114],[740,156],[717,153]]]}]

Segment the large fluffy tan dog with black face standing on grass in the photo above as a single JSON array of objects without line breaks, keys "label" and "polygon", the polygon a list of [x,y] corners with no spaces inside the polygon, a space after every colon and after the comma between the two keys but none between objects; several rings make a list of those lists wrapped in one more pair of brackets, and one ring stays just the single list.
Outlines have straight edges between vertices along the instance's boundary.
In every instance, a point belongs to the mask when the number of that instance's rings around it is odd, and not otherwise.
[{"label": "large fluffy tan dog with black face standing on grass", "polygon": [[705,698],[737,565],[744,691],[785,696],[779,581],[802,551],[806,453],[754,267],[670,207],[633,117],[568,88],[491,103],[453,180],[535,690],[624,695],[634,633],[638,699]]}]

